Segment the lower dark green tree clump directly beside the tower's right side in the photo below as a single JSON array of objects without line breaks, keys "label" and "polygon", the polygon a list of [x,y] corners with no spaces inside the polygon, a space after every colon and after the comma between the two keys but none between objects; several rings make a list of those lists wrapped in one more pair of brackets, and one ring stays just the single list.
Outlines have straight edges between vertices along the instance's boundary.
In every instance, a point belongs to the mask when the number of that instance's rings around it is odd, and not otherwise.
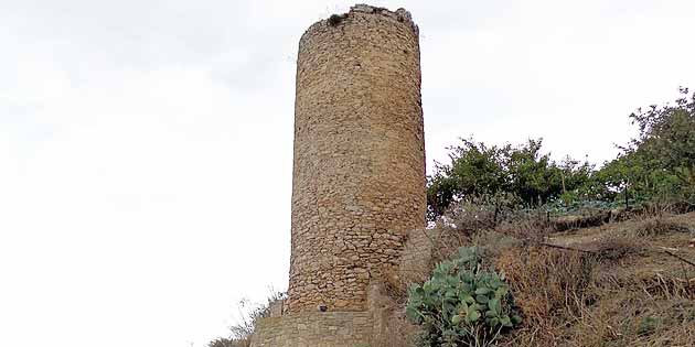
[{"label": "lower dark green tree clump directly beside the tower's right side", "polygon": [[[566,159],[558,165],[549,153],[542,153],[543,139],[513,147],[496,147],[461,139],[449,148],[451,164],[436,164],[428,177],[427,202],[430,220],[441,216],[452,202],[511,194],[523,205],[538,206],[562,194],[595,194],[578,189],[591,181],[594,165]],[[494,198],[493,198],[494,199]]]}]

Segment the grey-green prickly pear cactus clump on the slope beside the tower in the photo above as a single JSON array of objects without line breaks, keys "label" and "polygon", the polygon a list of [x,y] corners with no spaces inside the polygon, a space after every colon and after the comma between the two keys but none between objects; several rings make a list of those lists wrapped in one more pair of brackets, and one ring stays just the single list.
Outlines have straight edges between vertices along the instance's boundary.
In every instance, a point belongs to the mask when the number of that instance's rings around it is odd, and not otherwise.
[{"label": "grey-green prickly pear cactus clump on the slope beside the tower", "polygon": [[490,346],[521,324],[504,274],[481,261],[477,247],[460,248],[427,282],[410,288],[406,314],[424,328],[419,346]]}]

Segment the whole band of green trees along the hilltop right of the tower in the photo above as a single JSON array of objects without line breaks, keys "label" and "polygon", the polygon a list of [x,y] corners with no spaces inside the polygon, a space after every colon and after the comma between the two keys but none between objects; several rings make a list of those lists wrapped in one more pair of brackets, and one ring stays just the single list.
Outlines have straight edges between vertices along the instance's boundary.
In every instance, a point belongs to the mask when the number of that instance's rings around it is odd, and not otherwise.
[{"label": "whole band of green trees along the hilltop right of the tower", "polygon": [[550,160],[541,139],[517,147],[461,139],[449,149],[451,163],[437,163],[428,177],[428,218],[443,215],[453,202],[500,194],[518,197],[526,208],[557,210],[600,203],[689,202],[695,207],[695,94],[688,98],[687,93],[682,88],[673,105],[630,115],[639,137],[598,171],[586,161]]}]

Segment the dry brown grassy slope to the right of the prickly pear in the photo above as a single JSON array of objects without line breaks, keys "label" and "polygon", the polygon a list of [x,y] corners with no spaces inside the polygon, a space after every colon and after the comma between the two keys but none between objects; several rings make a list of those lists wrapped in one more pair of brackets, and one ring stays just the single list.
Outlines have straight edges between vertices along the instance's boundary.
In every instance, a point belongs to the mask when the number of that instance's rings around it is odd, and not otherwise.
[{"label": "dry brown grassy slope to the right of the prickly pear", "polygon": [[695,261],[695,213],[554,235],[542,219],[461,230],[443,232],[436,258],[474,243],[505,273],[524,322],[501,346],[695,346],[695,267],[666,253]]}]

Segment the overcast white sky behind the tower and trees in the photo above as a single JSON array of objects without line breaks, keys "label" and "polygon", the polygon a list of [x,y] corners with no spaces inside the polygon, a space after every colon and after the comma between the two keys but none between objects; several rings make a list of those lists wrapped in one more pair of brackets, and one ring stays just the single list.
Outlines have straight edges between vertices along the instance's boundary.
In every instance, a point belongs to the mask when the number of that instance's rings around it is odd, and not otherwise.
[{"label": "overcast white sky behind the tower and trees", "polygon": [[[601,162],[695,87],[692,0],[373,3],[420,26],[430,166]],[[0,346],[203,346],[286,288],[297,44],[350,4],[0,0]]]}]

